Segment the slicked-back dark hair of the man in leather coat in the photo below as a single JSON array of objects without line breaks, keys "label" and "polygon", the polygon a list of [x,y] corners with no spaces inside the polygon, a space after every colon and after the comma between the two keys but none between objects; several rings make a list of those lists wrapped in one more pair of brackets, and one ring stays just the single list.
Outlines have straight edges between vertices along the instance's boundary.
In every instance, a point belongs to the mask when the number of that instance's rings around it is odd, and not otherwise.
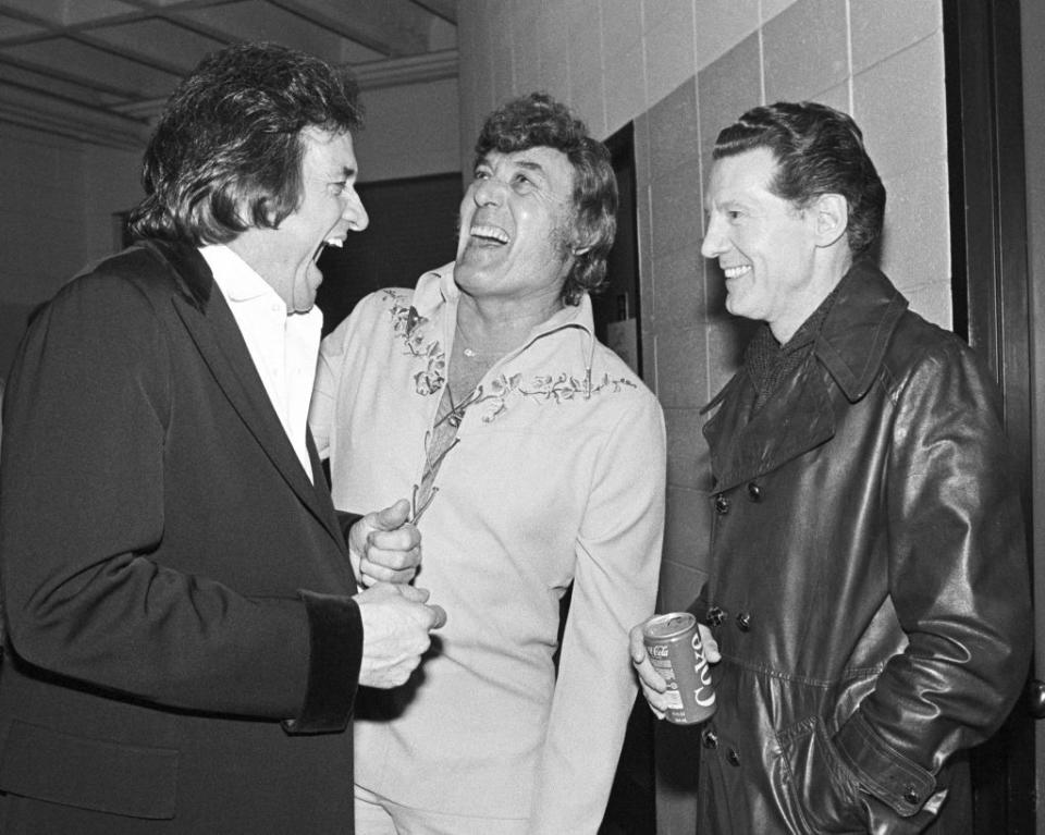
[{"label": "slicked-back dark hair of the man in leather coat", "polygon": [[798,208],[823,194],[845,197],[849,249],[853,260],[866,255],[882,234],[885,186],[851,116],[814,101],[752,108],[718,134],[712,157],[755,148],[769,148],[776,158],[770,191],[777,197]]}]

